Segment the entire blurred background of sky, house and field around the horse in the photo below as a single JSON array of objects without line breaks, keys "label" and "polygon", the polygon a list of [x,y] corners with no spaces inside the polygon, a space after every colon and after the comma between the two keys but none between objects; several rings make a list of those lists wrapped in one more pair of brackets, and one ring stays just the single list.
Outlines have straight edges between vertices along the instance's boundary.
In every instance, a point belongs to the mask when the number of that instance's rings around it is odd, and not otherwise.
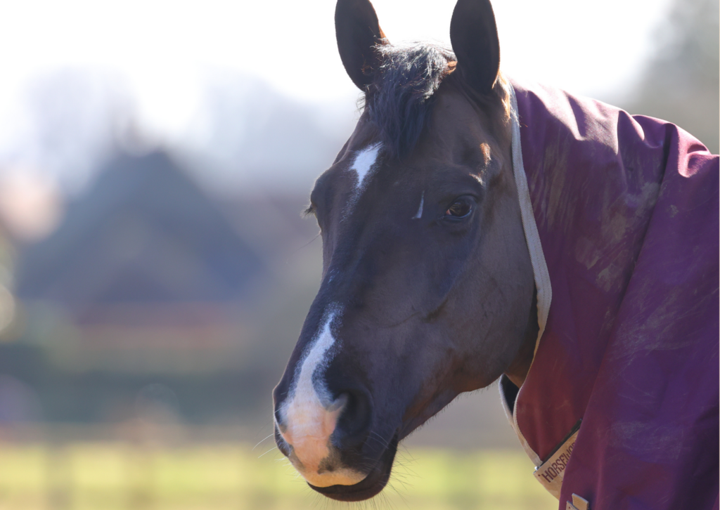
[{"label": "entire blurred background of sky, house and field around the horse", "polygon": [[[377,0],[449,44],[452,0]],[[502,68],[719,150],[717,0],[495,0]],[[357,119],[332,0],[0,3],[0,510],[325,506],[271,388],[319,284],[302,219]],[[307,243],[310,242],[308,245]],[[494,386],[379,508],[553,508]]]}]

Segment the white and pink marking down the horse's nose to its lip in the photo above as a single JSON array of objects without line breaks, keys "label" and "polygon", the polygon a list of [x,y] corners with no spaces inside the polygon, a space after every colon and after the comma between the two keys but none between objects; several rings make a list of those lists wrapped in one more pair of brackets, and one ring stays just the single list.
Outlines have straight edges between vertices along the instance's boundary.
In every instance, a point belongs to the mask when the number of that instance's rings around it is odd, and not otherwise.
[{"label": "white and pink marking down the horse's nose to its lip", "polygon": [[[333,401],[323,381],[323,372],[332,359],[328,357],[328,350],[336,342],[330,330],[336,314],[336,311],[326,314],[324,324],[306,348],[307,354],[300,368],[295,370],[289,397],[280,411],[285,425],[284,431],[281,429],[282,437],[292,445],[297,460],[302,463],[295,467],[305,480],[318,487],[353,485],[365,478],[361,473],[339,465],[334,470],[318,473],[322,461],[330,457],[330,435],[347,401],[346,396]],[[313,374],[317,374],[315,383]]]}]

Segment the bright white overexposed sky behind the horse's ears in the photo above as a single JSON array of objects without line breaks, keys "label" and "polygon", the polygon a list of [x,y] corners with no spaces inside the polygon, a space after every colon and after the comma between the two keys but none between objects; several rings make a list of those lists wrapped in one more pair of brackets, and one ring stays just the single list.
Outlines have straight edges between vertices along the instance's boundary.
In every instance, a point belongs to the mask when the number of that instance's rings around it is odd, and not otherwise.
[{"label": "bright white overexposed sky behind the horse's ears", "polygon": [[[143,122],[170,138],[194,118],[204,77],[217,70],[253,73],[297,99],[354,101],[356,90],[337,55],[334,4],[1,2],[0,124],[6,124],[30,79],[66,66],[122,76],[138,99]],[[374,5],[391,41],[449,43],[454,0]],[[667,6],[668,0],[496,0],[501,66],[511,76],[577,94],[619,90],[652,54],[652,31]]]}]

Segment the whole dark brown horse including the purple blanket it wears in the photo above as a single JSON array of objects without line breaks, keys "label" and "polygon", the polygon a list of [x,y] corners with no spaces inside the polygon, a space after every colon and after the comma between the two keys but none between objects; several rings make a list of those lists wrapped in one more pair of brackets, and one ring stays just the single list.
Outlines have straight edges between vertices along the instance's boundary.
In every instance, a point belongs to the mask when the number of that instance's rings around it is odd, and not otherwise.
[{"label": "whole dark brown horse including the purple blanket it wears", "polygon": [[400,441],[499,381],[561,508],[717,508],[718,156],[505,76],[488,0],[457,1],[451,49],[393,45],[368,0],[335,23],[364,106],[310,194],[323,273],[279,450],[372,498]]}]

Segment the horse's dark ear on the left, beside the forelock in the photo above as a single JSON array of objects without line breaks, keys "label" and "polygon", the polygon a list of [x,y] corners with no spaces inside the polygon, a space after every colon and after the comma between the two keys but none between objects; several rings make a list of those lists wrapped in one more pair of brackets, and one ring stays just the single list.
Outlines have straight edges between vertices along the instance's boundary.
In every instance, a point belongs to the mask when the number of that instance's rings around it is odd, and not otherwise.
[{"label": "horse's dark ear on the left, beside the forelock", "polygon": [[384,43],[384,33],[369,0],[338,0],[335,8],[338,50],[350,79],[362,91],[372,83],[379,58],[374,46]]}]

